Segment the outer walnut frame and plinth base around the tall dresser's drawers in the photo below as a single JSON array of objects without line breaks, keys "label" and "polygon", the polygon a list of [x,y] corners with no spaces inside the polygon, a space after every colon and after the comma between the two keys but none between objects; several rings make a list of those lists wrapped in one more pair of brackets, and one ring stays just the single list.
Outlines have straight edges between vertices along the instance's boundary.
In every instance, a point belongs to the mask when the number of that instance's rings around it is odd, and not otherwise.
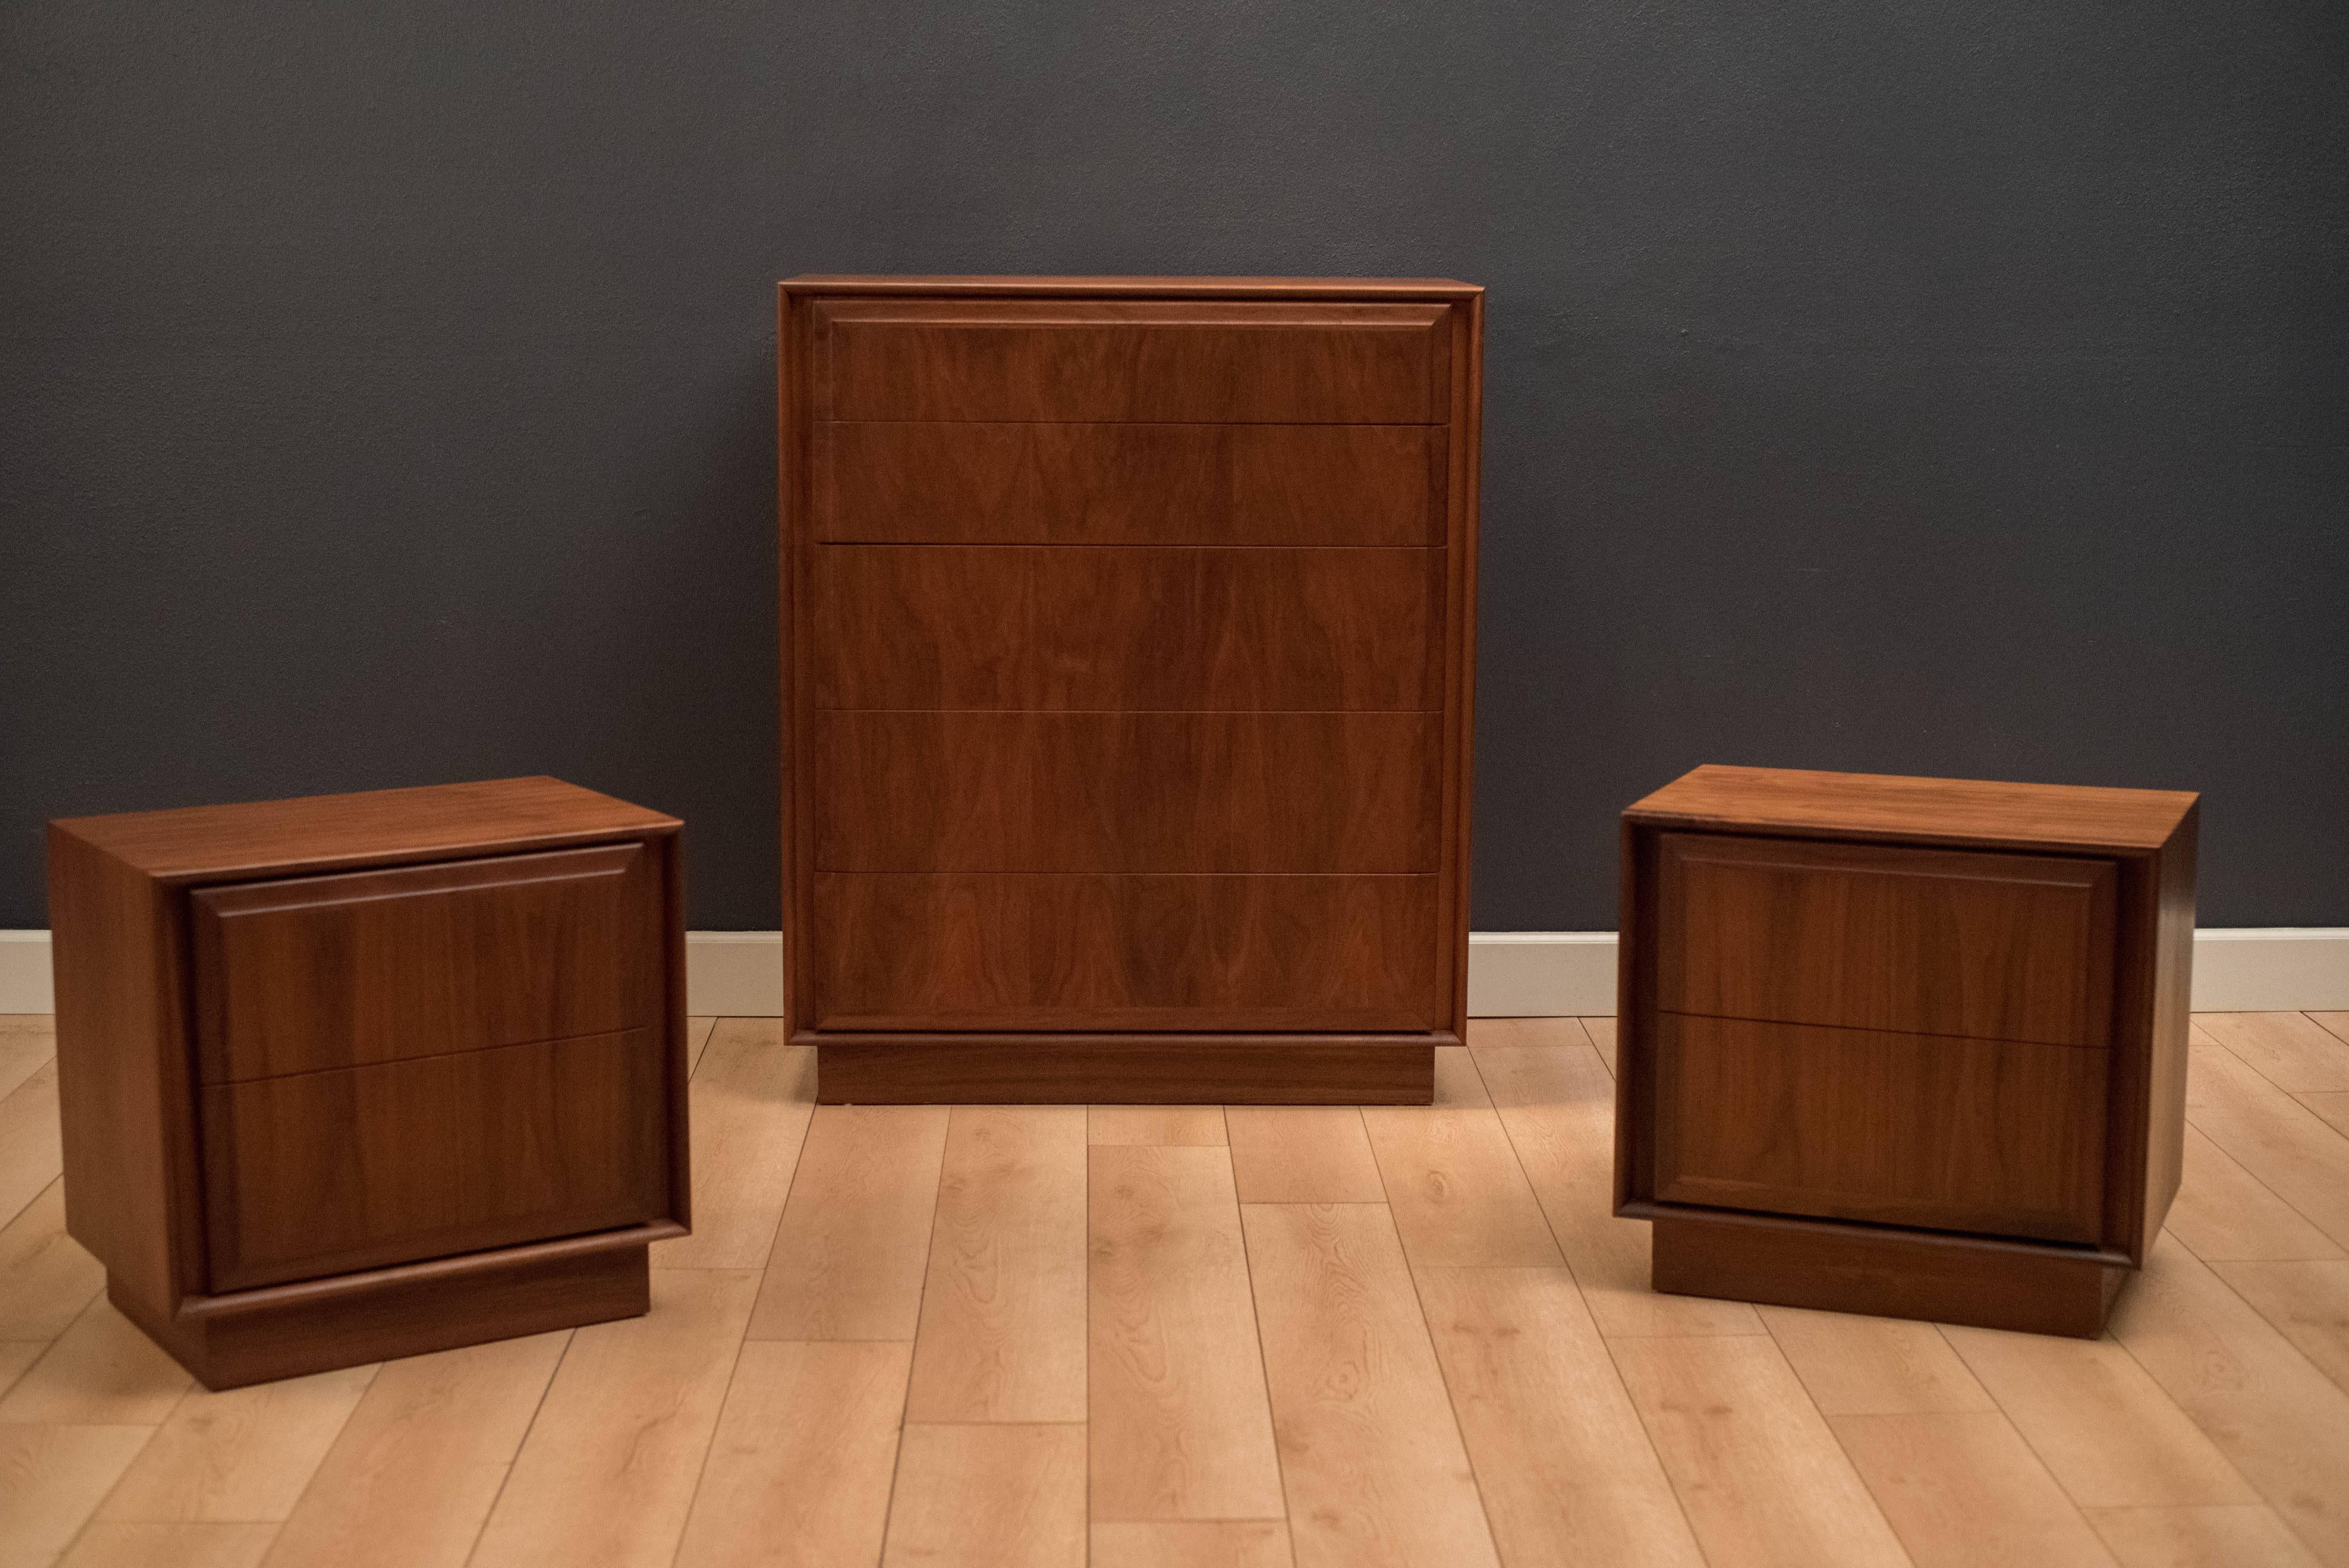
[{"label": "outer walnut frame and plinth base around the tall dresser's drawers", "polygon": [[[817,549],[813,322],[834,300],[1125,300],[1438,305],[1449,336],[1433,366],[1449,460],[1442,472],[1442,732],[1435,960],[1442,1026],[1409,1033],[1346,1028],[1221,1030],[839,1030],[815,1026],[815,681],[806,610]],[[820,1047],[820,1101],[1128,1099],[1163,1103],[1428,1103],[1433,1047],[1459,1045],[1468,1016],[1468,782],[1475,695],[1475,514],[1485,291],[1442,279],[1214,277],[796,277],[778,286],[780,662],[782,662],[782,934],[785,1035]]]}]

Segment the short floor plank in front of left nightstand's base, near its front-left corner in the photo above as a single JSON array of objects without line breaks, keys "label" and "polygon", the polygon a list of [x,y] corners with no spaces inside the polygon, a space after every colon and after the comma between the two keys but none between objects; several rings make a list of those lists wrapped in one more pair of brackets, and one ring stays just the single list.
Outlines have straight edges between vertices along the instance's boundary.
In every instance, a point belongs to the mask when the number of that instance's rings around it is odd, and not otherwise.
[{"label": "short floor plank in front of left nightstand's base, near its front-left corner", "polygon": [[284,1519],[373,1378],[369,1364],[218,1394],[188,1390],[99,1519]]}]

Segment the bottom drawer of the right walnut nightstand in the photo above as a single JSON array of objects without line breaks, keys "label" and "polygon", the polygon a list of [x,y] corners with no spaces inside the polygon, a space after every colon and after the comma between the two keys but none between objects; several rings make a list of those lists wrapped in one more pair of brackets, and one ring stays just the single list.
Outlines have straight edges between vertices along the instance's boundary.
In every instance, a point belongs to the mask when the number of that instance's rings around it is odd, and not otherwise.
[{"label": "bottom drawer of the right walnut nightstand", "polygon": [[2105,1052],[1656,1014],[1656,1197],[2095,1242]]}]

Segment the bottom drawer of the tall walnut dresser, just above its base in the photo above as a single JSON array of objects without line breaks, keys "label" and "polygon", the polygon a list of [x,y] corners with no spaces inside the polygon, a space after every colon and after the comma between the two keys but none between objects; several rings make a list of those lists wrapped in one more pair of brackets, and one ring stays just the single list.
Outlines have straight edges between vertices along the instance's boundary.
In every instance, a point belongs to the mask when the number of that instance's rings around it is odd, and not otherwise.
[{"label": "bottom drawer of the tall walnut dresser, just above its base", "polygon": [[1433,876],[820,873],[817,1028],[1445,1028]]}]

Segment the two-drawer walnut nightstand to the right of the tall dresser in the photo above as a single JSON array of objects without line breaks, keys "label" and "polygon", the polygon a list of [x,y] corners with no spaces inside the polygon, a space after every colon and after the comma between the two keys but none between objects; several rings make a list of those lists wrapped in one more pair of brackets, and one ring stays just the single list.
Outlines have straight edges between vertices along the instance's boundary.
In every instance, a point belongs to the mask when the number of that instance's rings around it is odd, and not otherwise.
[{"label": "two-drawer walnut nightstand to the right of the tall dresser", "polygon": [[1698,768],[1623,812],[1658,1291],[2093,1336],[2185,1129],[2196,796]]}]

